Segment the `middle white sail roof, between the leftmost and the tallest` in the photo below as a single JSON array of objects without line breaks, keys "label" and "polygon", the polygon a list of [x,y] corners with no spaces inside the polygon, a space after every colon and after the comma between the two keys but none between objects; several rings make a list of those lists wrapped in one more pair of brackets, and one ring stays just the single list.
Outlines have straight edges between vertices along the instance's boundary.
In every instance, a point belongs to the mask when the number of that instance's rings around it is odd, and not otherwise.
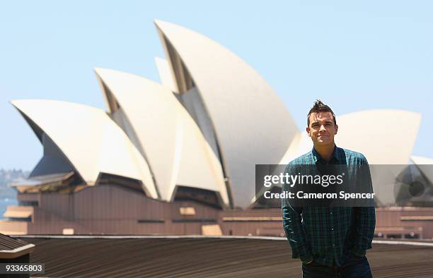
[{"label": "middle white sail roof, between the leftmost and the tallest", "polygon": [[161,198],[173,200],[175,186],[190,186],[215,191],[228,205],[219,160],[173,92],[137,75],[104,68],[95,71],[105,97],[114,97],[122,109],[122,121],[130,123],[129,133],[137,136]]}]

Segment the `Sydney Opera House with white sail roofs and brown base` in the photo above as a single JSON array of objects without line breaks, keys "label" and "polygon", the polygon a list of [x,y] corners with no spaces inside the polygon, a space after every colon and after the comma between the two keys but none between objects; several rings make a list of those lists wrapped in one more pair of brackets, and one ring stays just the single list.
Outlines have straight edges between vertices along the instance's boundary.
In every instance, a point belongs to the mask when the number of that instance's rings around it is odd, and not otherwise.
[{"label": "Sydney Opera House with white sail roofs and brown base", "polygon": [[[258,202],[255,164],[287,164],[311,150],[310,138],[245,61],[197,32],[155,24],[161,83],[95,68],[106,111],[12,101],[43,156],[13,184],[19,205],[2,233],[283,235],[279,204]],[[412,156],[420,122],[389,109],[337,116],[337,145],[393,165],[388,176],[372,171],[378,237],[433,238],[433,159]],[[412,172],[417,194],[404,179]]]}]

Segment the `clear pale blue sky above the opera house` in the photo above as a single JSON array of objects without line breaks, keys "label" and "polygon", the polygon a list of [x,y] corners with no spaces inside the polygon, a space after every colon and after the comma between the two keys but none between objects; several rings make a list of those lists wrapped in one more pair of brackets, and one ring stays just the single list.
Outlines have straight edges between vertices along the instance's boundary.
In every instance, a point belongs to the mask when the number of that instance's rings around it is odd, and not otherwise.
[{"label": "clear pale blue sky above the opera house", "polygon": [[0,169],[31,170],[42,157],[11,99],[105,109],[95,67],[159,81],[154,57],[164,54],[155,19],[240,56],[302,130],[317,98],[337,115],[415,111],[422,123],[412,153],[433,157],[432,13],[432,1],[3,1]]}]

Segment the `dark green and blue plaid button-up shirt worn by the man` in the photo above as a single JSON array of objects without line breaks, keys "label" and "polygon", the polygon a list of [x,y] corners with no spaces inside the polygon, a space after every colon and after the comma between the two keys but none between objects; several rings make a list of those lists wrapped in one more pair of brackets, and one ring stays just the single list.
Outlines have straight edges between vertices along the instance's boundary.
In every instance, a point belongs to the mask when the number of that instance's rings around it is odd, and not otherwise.
[{"label": "dark green and blue plaid button-up shirt worn by the man", "polygon": [[[329,162],[316,150],[291,161],[286,173],[293,173],[294,165],[345,164],[368,165],[364,155],[335,146]],[[368,181],[371,185],[371,178]],[[283,191],[288,191],[284,184]],[[291,246],[292,258],[302,262],[314,260],[321,265],[342,265],[352,252],[365,255],[371,248],[376,216],[374,207],[292,207],[282,199],[283,226]]]}]

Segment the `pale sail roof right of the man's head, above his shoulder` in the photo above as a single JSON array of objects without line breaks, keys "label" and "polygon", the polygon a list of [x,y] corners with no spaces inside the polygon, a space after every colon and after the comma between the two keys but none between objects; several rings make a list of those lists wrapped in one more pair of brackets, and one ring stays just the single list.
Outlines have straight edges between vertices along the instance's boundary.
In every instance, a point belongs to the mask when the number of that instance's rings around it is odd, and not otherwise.
[{"label": "pale sail roof right of the man's head, above his shoulder", "polygon": [[421,114],[393,109],[365,110],[337,117],[338,146],[362,152],[369,164],[408,164]]}]

